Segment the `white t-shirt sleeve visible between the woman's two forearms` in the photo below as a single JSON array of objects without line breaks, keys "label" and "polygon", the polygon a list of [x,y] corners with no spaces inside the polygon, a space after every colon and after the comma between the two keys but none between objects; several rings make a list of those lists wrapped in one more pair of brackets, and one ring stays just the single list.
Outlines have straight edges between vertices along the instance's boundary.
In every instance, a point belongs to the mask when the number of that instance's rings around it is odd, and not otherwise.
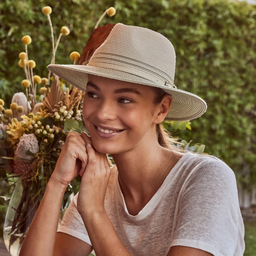
[{"label": "white t-shirt sleeve visible between the woman's two forearms", "polygon": [[[70,202],[66,213],[64,214],[57,232],[70,234],[73,237],[79,238],[82,241],[91,245],[88,233],[86,231],[83,219],[76,208],[77,196],[79,192],[73,197]],[[92,246],[92,245],[91,245]]]}]

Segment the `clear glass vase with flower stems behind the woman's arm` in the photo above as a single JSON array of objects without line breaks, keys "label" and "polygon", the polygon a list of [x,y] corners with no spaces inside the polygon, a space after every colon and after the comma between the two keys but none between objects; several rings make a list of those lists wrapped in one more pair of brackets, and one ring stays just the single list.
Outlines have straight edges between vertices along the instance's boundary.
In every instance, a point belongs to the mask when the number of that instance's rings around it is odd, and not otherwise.
[{"label": "clear glass vase with flower stems behind the woman's arm", "polygon": [[[31,195],[29,196],[29,190],[29,187],[18,178],[5,215],[3,240],[8,252],[12,256],[19,255],[29,226],[40,205],[37,196],[34,199],[32,199]],[[74,193],[69,196],[65,207],[61,206],[58,227],[73,196]]]}]

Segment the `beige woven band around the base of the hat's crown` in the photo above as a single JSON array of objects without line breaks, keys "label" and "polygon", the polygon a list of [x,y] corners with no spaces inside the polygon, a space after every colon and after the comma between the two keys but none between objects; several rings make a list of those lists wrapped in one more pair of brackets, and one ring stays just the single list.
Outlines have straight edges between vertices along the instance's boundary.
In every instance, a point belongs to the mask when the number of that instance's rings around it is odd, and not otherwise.
[{"label": "beige woven band around the base of the hat's crown", "polygon": [[[125,59],[126,60],[126,59]],[[135,61],[134,61],[135,62]],[[136,64],[135,64],[136,63]],[[163,74],[162,72],[155,73],[152,71],[152,69],[147,68],[144,64],[143,67],[138,65],[138,62],[130,63],[123,60],[118,59],[112,59],[112,58],[105,58],[105,57],[92,57],[87,64],[87,66],[92,67],[100,67],[100,68],[108,68],[108,69],[114,69],[119,71],[124,71],[133,75],[137,75],[140,77],[143,77],[145,79],[148,79],[152,81],[153,83],[156,83],[160,86],[166,86],[171,88],[177,88],[170,80],[170,77],[166,77],[167,75]],[[163,77],[160,76],[160,74],[163,75]]]}]

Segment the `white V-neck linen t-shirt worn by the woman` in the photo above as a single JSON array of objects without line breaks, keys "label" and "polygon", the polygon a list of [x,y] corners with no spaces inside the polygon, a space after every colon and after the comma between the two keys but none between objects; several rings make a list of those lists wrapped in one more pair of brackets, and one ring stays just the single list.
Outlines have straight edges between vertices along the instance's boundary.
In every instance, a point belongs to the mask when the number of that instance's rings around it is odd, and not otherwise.
[{"label": "white V-neck linen t-shirt worn by the woman", "polygon": [[[136,216],[127,211],[117,174],[114,165],[104,207],[131,255],[166,256],[175,245],[198,248],[214,256],[243,255],[244,223],[236,177],[221,159],[187,152]],[[78,194],[73,197],[57,232],[91,245],[76,209]],[[95,254],[94,250],[92,253]]]}]

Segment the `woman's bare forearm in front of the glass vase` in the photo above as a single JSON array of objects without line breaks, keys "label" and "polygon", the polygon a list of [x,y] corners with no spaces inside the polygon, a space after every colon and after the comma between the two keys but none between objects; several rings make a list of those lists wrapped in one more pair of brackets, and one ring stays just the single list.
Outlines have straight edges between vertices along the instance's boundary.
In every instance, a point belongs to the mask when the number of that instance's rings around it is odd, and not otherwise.
[{"label": "woman's bare forearm in front of the glass vase", "polygon": [[66,188],[51,176],[19,256],[53,256],[60,207]]}]

